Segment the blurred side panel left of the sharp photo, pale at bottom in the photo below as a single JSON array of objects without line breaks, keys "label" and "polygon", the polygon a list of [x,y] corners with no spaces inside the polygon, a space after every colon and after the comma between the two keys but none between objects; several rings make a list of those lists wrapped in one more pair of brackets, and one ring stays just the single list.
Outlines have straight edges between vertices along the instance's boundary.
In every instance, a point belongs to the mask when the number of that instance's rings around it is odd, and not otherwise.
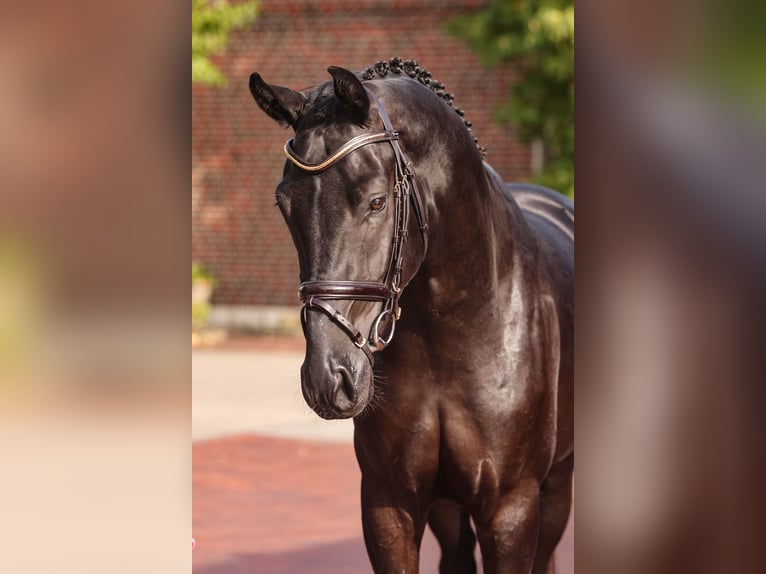
[{"label": "blurred side panel left of the sharp photo, pale at bottom", "polygon": [[191,567],[190,12],[3,8],[2,572]]}]

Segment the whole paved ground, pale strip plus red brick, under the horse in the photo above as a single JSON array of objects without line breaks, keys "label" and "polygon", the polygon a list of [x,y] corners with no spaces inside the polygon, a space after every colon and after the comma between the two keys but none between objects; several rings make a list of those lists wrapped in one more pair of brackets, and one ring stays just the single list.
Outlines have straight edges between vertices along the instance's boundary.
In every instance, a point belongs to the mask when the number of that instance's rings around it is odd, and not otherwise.
[{"label": "whole paved ground, pale strip plus red brick, under the horse", "polygon": [[[195,574],[370,572],[350,421],[303,403],[299,340],[233,341],[192,353]],[[574,572],[574,528],[557,555]],[[433,537],[421,572],[436,572]]]}]

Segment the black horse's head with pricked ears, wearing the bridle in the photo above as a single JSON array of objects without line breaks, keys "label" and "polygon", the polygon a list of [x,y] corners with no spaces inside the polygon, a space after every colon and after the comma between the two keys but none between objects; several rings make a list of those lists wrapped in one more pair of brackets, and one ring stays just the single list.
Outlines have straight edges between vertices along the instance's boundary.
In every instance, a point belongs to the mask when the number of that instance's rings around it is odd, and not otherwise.
[{"label": "black horse's head with pricked ears, wearing the bridle", "polygon": [[303,92],[252,74],[250,91],[295,130],[276,198],[300,263],[303,396],[331,419],[372,398],[373,353],[393,337],[399,295],[423,259],[426,214],[376,96],[352,72],[328,71],[332,82]]}]

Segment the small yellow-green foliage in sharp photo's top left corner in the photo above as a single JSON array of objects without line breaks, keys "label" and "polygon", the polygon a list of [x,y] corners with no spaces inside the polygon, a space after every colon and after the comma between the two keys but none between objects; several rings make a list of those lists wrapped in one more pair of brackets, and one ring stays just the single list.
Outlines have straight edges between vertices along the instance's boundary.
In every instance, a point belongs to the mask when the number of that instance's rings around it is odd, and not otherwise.
[{"label": "small yellow-green foliage in sharp photo's top left corner", "polygon": [[229,32],[247,26],[258,14],[258,2],[229,4],[225,0],[192,0],[192,82],[223,84],[226,77],[210,61],[229,42]]}]

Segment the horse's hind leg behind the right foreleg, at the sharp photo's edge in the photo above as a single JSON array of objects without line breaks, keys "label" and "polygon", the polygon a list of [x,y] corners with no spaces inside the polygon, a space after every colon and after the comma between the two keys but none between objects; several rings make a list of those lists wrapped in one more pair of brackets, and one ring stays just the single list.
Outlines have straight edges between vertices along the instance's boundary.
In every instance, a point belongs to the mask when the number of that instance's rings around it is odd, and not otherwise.
[{"label": "horse's hind leg behind the right foreleg, at the sharp photo's edge", "polygon": [[574,454],[551,469],[540,491],[540,541],[533,574],[551,574],[553,551],[561,540],[572,506]]}]

